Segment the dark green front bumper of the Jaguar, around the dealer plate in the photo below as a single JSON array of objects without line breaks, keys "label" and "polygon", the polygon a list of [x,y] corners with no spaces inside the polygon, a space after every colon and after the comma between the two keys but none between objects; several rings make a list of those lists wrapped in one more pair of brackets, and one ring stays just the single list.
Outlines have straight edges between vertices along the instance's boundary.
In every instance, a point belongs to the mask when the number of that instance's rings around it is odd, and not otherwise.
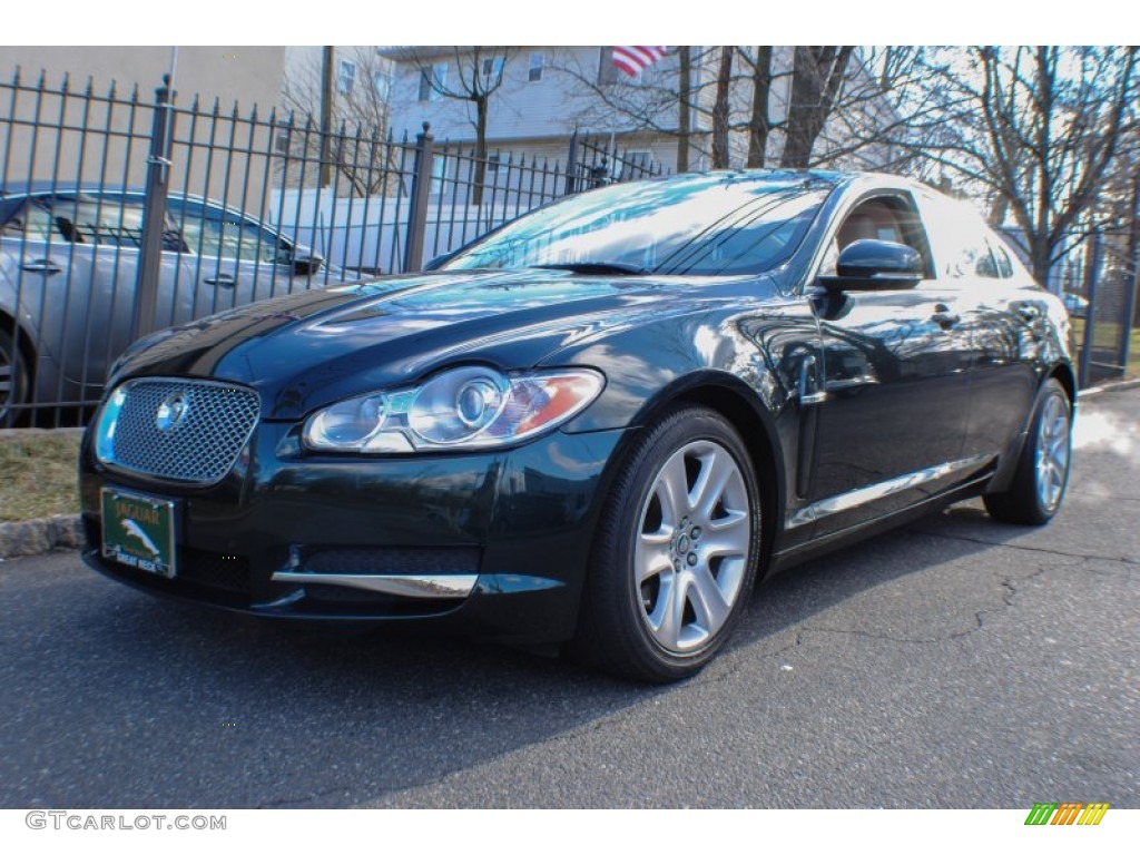
[{"label": "dark green front bumper of the Jaguar, around the dealer plate", "polygon": [[[262,422],[207,488],[80,464],[100,572],[156,594],[275,618],[430,624],[515,643],[569,638],[608,464],[624,431],[553,433],[481,454],[359,457],[301,449]],[[100,489],[176,500],[178,573],[101,556]]]}]

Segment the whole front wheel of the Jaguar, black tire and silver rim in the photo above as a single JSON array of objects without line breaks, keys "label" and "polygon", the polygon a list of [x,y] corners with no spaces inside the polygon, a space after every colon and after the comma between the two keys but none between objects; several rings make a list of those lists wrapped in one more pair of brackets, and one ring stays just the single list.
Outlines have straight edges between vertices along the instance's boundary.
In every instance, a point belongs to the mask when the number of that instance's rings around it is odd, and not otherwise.
[{"label": "whole front wheel of the Jaguar, black tire and silver rim", "polygon": [[645,429],[602,511],[572,650],[668,683],[724,645],[756,578],[760,502],[740,434],[686,406]]}]

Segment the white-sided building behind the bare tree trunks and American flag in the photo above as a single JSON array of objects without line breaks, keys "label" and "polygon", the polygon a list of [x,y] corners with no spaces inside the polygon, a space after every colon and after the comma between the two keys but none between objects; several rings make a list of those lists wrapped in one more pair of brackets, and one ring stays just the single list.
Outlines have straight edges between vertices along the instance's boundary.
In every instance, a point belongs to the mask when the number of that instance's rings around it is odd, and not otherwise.
[{"label": "white-sided building behind the bare tree trunks and American flag", "polygon": [[[579,133],[612,139],[635,161],[652,161],[673,171],[677,165],[677,51],[644,70],[636,78],[620,72],[611,62],[610,47],[409,47],[389,48],[382,56],[393,63],[390,124],[396,133],[414,137],[424,122],[438,141],[473,144],[475,105],[451,95],[464,95],[502,85],[488,98],[488,154],[526,154],[564,163],[570,137]],[[768,100],[769,121],[777,124],[787,114],[793,49],[775,48],[773,82]],[[709,166],[711,107],[719,48],[691,49],[694,109],[690,111],[689,168]],[[751,114],[750,70],[736,58],[730,104],[731,161],[744,165],[748,150],[747,124]],[[434,81],[430,81],[430,75]],[[848,71],[848,85],[866,88],[873,81],[858,62]],[[858,121],[886,123],[893,117],[883,98],[860,106]],[[832,117],[824,125],[816,153],[844,149],[852,130]],[[782,131],[769,135],[767,164],[776,165],[783,147]],[[836,165],[873,169],[889,161],[885,146],[870,146],[842,155]]]}]

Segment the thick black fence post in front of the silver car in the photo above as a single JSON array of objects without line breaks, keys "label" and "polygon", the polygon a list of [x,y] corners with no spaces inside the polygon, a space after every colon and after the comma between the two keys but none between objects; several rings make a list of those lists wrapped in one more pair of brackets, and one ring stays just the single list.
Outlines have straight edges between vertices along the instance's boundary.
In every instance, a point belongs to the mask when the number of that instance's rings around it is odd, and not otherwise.
[{"label": "thick black fence post in front of the silver car", "polygon": [[131,317],[131,341],[154,327],[158,302],[158,278],[162,272],[162,238],[166,223],[166,188],[170,180],[170,75],[162,75],[155,91],[154,121],[150,128],[150,154],[146,158],[146,201],[142,209],[142,245],[139,247],[138,278],[135,283],[135,315]]}]

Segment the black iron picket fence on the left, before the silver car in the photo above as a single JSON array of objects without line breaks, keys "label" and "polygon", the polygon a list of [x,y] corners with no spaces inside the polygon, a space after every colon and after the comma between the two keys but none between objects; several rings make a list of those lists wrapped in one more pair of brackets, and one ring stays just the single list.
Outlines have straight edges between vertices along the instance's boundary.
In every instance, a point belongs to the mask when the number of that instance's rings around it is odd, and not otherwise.
[{"label": "black iron picket fence on the left, before the silver car", "polygon": [[0,426],[75,423],[148,331],[415,271],[571,193],[661,168],[573,135],[542,158],[17,71],[0,82]]}]

